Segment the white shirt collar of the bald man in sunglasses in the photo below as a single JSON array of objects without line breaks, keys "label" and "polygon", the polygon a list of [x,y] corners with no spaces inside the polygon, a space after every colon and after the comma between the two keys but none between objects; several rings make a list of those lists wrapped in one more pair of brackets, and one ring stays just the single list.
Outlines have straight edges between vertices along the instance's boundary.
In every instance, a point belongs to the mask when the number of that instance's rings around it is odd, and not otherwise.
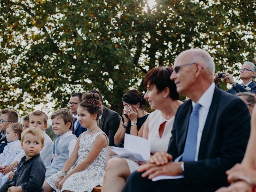
[{"label": "white shirt collar of the bald man in sunglasses", "polygon": [[[212,97],[215,89],[215,84],[212,83],[210,87],[204,92],[204,94],[198,100],[198,103],[206,109],[210,109],[212,103]],[[192,101],[192,106],[194,107],[196,103]]]}]

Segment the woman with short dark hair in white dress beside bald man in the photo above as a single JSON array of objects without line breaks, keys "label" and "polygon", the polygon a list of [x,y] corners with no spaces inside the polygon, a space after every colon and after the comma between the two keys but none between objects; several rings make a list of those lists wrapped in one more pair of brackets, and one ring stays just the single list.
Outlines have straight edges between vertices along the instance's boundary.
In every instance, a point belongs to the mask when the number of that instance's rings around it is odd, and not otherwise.
[{"label": "woman with short dark hair in white dress beside bald man", "polygon": [[[150,151],[167,151],[175,114],[181,104],[176,84],[170,80],[171,67],[151,69],[144,78],[147,92],[144,98],[155,109],[146,119],[142,137],[150,141]],[[106,164],[102,192],[118,192],[124,187],[128,176],[138,169],[139,163],[125,159],[112,158]]]}]

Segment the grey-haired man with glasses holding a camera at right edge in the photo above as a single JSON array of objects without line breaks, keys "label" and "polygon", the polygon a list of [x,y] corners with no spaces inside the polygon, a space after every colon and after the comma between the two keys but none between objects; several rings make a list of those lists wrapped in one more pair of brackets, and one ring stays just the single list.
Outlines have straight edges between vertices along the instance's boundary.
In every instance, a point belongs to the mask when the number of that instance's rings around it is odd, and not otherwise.
[{"label": "grey-haired man with glasses holding a camera at right edge", "polygon": [[231,74],[228,72],[217,72],[214,76],[214,82],[216,85],[220,82],[222,78],[227,80],[230,84],[232,84],[232,88],[227,90],[227,92],[231,94],[236,94],[237,92],[252,92],[256,93],[256,84],[253,79],[256,75],[256,66],[252,62],[244,62],[242,68],[240,69],[240,79],[242,79],[243,83],[238,84],[234,81]]}]

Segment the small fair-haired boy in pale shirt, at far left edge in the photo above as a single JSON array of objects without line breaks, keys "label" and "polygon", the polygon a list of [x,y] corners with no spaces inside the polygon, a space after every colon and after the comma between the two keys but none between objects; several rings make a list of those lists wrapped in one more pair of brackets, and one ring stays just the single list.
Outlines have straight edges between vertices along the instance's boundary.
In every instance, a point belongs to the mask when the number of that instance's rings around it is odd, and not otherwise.
[{"label": "small fair-haired boy in pale shirt, at far left edge", "polygon": [[4,147],[4,151],[0,154],[0,187],[1,180],[6,172],[10,172],[8,166],[16,156],[22,151],[20,146],[20,134],[22,133],[22,124],[13,123],[6,128],[6,140],[8,144]]}]

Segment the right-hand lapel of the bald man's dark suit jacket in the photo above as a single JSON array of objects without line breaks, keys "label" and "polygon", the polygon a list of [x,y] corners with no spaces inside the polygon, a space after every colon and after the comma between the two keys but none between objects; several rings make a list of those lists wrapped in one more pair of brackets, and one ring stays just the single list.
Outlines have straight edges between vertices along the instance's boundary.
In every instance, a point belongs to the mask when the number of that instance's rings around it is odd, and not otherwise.
[{"label": "right-hand lapel of the bald man's dark suit jacket", "polygon": [[210,105],[210,109],[206,118],[206,122],[204,124],[204,130],[202,132],[202,138],[200,141],[200,147],[199,147],[199,153],[198,153],[198,160],[201,159],[201,156],[204,152],[204,149],[206,147],[206,143],[208,142],[208,136],[210,133],[210,130],[212,129],[212,124],[214,121],[214,118],[216,117],[217,107],[218,107],[218,101],[220,99],[220,91],[218,88],[214,89],[214,94],[212,97],[212,103]]}]

